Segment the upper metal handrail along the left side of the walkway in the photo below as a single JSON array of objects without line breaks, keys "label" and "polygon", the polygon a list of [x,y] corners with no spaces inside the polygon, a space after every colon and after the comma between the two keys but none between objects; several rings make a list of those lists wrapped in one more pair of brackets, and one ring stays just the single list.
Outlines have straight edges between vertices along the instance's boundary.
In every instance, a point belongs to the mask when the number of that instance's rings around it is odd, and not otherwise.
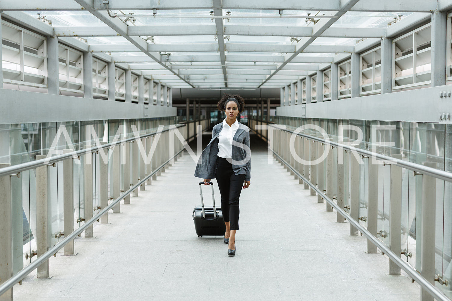
[{"label": "upper metal handrail along the left side of the walkway", "polygon": [[[185,124],[176,124],[175,125],[176,128],[184,127],[184,126],[185,126]],[[173,130],[173,129],[172,128],[167,128],[167,129],[161,131],[160,133],[168,132],[168,131],[171,131],[171,130]],[[150,136],[154,136],[157,133],[159,133],[159,132],[152,132],[152,133],[149,133],[149,134],[141,135],[140,139],[146,138],[146,137],[150,137]],[[63,160],[69,159],[69,158],[73,157],[74,155],[78,157],[78,156],[84,155],[86,153],[94,153],[94,152],[96,152],[96,151],[98,151],[100,149],[109,148],[111,146],[116,146],[118,144],[122,144],[122,143],[125,143],[125,142],[134,141],[136,139],[137,138],[135,138],[135,137],[127,138],[127,139],[124,139],[124,140],[121,140],[121,141],[117,141],[116,143],[113,143],[113,142],[106,143],[106,144],[103,144],[103,145],[100,145],[100,146],[93,146],[93,147],[91,147],[89,149],[85,149],[85,150],[76,150],[76,151],[72,151],[70,153],[66,153],[66,154],[62,154],[62,155],[56,155],[56,156],[53,156],[53,157],[50,157],[50,158],[47,158],[47,159],[35,160],[35,161],[32,161],[32,162],[25,162],[25,163],[21,163],[21,164],[17,164],[17,165],[4,167],[4,168],[0,169],[0,177],[5,176],[5,175],[10,175],[10,174],[17,174],[17,173],[19,173],[21,171],[25,171],[25,170],[29,170],[29,169],[33,169],[33,168],[37,168],[37,167],[43,166],[43,165],[45,165],[44,162],[47,162],[48,164],[53,164],[53,163],[56,163],[56,162],[59,162],[59,161],[63,161]]]}]

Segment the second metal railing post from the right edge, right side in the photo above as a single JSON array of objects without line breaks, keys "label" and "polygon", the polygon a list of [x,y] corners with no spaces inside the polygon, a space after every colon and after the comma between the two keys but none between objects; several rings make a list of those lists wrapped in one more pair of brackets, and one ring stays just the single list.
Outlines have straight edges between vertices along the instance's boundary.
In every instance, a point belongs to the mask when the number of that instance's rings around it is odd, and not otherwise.
[{"label": "second metal railing post from the right edge, right side", "polygon": [[[391,157],[401,160],[402,154],[392,154]],[[402,168],[391,165],[390,179],[389,247],[395,254],[400,254],[400,233],[402,233]],[[392,260],[389,260],[389,275],[400,275],[400,267]]]}]

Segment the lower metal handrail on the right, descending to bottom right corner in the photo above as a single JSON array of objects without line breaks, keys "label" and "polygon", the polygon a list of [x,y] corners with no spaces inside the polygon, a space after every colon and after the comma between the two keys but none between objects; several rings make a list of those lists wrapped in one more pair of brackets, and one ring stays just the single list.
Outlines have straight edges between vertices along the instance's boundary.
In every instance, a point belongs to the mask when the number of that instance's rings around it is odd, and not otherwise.
[{"label": "lower metal handrail on the right, descending to bottom right corner", "polygon": [[[294,174],[296,174],[300,179],[303,180],[304,183],[308,184],[311,189],[315,190],[326,202],[330,204],[331,207],[336,209],[336,211],[344,216],[344,218],[352,224],[356,229],[358,229],[361,233],[363,233],[364,236],[368,240],[372,242],[372,244],[376,245],[384,254],[386,254],[395,264],[397,264],[401,269],[403,269],[408,276],[410,276],[413,280],[419,283],[419,285],[427,291],[430,295],[432,295],[435,299],[440,301],[451,301],[449,297],[447,297],[443,292],[438,290],[433,284],[428,282],[427,279],[422,277],[421,274],[418,273],[418,271],[413,268],[410,264],[405,262],[400,258],[400,255],[395,254],[391,251],[383,242],[381,242],[376,236],[372,235],[371,232],[367,231],[367,229],[362,226],[358,221],[353,219],[352,216],[350,216],[347,212],[344,211],[343,208],[339,207],[333,200],[328,198],[326,194],[323,191],[320,191],[319,188],[317,188],[314,184],[312,184],[310,181],[308,181],[305,177],[303,177],[296,169],[294,169],[291,165],[287,163],[286,160],[282,159],[280,155],[278,155],[274,150],[273,154],[278,157],[279,160],[281,160],[287,167],[289,167]],[[369,152],[370,153],[370,152]],[[374,153],[372,153],[374,154]]]}]

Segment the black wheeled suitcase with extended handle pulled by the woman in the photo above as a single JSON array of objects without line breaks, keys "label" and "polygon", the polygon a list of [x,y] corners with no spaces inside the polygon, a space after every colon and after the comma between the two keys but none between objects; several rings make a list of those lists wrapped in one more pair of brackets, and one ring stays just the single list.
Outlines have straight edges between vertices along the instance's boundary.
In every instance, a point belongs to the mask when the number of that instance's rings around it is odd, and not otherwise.
[{"label": "black wheeled suitcase with extended handle pulled by the woman", "polygon": [[204,182],[199,182],[199,193],[201,195],[201,206],[196,206],[193,209],[193,221],[195,223],[195,230],[198,237],[202,235],[221,235],[223,236],[226,232],[226,226],[223,221],[223,214],[221,209],[215,207],[215,196],[213,193],[213,183],[208,182],[212,185],[212,207],[204,207],[204,201],[202,200],[202,188],[201,185]]}]

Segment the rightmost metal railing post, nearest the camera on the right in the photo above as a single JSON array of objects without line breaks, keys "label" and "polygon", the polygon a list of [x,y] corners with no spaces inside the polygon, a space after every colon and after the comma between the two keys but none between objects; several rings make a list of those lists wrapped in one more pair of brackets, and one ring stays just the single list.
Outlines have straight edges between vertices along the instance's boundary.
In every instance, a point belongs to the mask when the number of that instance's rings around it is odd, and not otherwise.
[{"label": "rightmost metal railing post, nearest the camera on the right", "polygon": [[[424,166],[436,168],[436,162],[422,162]],[[428,282],[435,284],[435,217],[436,179],[422,176],[422,213],[421,213],[421,274]],[[433,301],[433,296],[421,287],[421,301]]]}]

